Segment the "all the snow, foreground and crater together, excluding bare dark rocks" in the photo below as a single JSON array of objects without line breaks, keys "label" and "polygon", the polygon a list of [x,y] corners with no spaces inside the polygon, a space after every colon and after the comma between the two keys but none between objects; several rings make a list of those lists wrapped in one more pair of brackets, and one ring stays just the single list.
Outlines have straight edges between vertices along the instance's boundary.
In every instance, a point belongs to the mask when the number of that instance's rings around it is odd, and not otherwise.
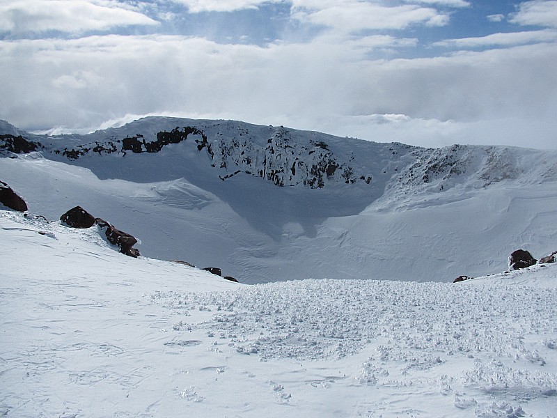
[{"label": "all the snow, foreground and crater together, excluding bare dark rocks", "polygon": [[[213,155],[56,153],[176,126]],[[175,118],[29,138],[0,158],[29,206],[0,209],[0,415],[557,417],[557,264],[505,272],[556,249],[557,152]],[[143,256],[57,220],[78,205]]]}]

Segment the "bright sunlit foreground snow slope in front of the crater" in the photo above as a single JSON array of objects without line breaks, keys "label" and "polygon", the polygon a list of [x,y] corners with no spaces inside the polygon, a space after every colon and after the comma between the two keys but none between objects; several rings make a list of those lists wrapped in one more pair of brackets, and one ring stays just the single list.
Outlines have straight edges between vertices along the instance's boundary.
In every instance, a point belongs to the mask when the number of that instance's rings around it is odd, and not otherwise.
[{"label": "bright sunlit foreground snow slope in front of the crater", "polygon": [[3,416],[556,417],[557,264],[245,286],[5,210],[0,254]]}]

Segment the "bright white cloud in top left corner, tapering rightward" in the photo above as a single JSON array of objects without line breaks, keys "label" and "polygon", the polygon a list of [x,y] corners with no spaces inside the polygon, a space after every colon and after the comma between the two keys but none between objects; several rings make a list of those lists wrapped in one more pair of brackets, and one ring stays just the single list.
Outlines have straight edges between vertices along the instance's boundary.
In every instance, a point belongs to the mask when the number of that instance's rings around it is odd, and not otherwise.
[{"label": "bright white cloud in top left corner, tapering rightward", "polygon": [[3,0],[0,33],[84,33],[115,26],[157,25],[130,6],[107,0]]}]

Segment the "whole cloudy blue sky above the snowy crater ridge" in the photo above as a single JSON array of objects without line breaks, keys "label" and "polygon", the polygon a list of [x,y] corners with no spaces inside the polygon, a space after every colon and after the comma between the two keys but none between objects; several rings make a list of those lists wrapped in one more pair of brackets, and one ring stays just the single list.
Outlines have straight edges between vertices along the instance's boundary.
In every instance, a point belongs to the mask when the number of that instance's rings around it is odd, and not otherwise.
[{"label": "whole cloudy blue sky above the snowy crater ridge", "polygon": [[557,0],[0,0],[0,118],[557,148]]}]

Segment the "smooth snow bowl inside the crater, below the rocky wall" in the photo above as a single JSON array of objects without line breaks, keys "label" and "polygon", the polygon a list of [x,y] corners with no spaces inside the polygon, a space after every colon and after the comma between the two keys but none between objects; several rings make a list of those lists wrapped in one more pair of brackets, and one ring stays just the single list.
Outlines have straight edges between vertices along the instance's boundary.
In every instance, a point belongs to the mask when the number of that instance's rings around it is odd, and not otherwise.
[{"label": "smooth snow bowl inside the crater, below the rocky wall", "polygon": [[[180,153],[174,156],[180,160]],[[551,181],[503,181],[487,189],[457,184],[443,193],[409,194],[406,201],[389,195],[374,201],[365,183],[315,190],[242,174],[223,182],[210,176],[210,166],[196,169],[194,182],[164,180],[167,167],[157,155],[141,157],[143,165],[130,160],[120,169],[139,173],[152,164],[162,173],[159,181],[102,179],[38,153],[0,159],[0,178],[32,213],[58,219],[79,205],[139,238],[146,256],[220,267],[248,284],[337,277],[453,281],[504,270],[515,249],[549,254],[557,237]]]}]

